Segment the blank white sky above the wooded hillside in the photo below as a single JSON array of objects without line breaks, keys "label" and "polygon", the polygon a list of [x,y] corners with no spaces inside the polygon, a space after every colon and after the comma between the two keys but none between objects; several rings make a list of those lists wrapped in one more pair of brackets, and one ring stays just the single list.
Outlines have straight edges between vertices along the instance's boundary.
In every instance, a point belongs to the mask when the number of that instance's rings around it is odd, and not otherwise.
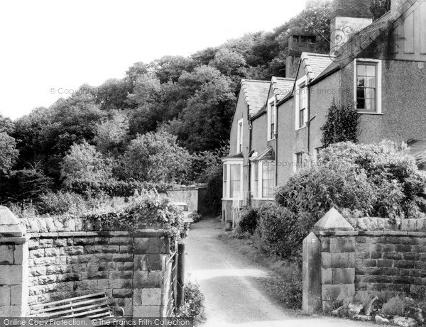
[{"label": "blank white sky above the wooded hillside", "polygon": [[0,2],[0,113],[16,119],[134,62],[273,31],[306,0]]}]

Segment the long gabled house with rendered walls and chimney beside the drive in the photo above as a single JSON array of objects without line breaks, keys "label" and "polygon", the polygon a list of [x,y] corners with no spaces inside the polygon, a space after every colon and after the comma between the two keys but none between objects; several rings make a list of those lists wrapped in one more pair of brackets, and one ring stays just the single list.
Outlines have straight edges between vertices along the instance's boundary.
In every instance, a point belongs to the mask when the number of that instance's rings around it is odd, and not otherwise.
[{"label": "long gabled house with rendered walls and chimney beside the drive", "polygon": [[[284,89],[289,87],[288,93],[275,94],[271,81],[268,96],[263,98],[266,103],[260,109],[246,110],[244,116],[239,109],[240,101],[244,102],[240,92],[231,127],[231,152],[224,159],[226,173],[230,168],[238,170],[231,162],[241,162],[240,191],[224,192],[224,219],[246,202],[241,199],[249,199],[253,206],[271,201],[271,185],[285,183],[305,153],[313,157],[320,153],[321,127],[333,101],[354,102],[360,115],[361,143],[410,142],[424,162],[426,1],[392,0],[391,11],[374,22],[370,4],[370,0],[334,0],[330,54],[307,50],[294,60],[290,56],[297,55],[290,53],[288,79],[280,80]],[[238,133],[241,118],[242,136]],[[224,174],[224,189],[232,183],[228,177]]]}]

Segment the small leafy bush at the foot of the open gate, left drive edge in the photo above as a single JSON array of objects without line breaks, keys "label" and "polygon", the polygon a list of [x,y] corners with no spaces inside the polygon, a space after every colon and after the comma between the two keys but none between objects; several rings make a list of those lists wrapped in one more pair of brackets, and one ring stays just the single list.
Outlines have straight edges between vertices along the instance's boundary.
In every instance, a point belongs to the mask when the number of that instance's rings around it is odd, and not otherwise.
[{"label": "small leafy bush at the foot of the open gate, left drive edge", "polygon": [[204,295],[200,286],[194,282],[187,281],[184,286],[185,301],[178,309],[176,317],[194,320],[202,316],[204,310]]}]

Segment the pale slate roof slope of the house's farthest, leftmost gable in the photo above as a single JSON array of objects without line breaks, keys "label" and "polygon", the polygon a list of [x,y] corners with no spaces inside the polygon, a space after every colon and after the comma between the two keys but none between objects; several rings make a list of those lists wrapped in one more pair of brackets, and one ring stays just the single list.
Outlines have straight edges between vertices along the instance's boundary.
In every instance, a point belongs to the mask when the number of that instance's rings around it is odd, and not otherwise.
[{"label": "pale slate roof slope of the house's farthest, leftmost gable", "polygon": [[241,79],[241,91],[244,93],[246,103],[249,105],[251,115],[260,111],[268,101],[268,92],[271,82]]}]

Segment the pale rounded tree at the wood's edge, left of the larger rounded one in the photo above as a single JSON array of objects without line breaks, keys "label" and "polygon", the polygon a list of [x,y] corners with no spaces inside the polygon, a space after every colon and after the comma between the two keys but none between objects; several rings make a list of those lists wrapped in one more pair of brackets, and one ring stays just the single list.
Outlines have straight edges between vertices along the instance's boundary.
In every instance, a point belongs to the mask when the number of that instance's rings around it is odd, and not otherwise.
[{"label": "pale rounded tree at the wood's edge, left of the larger rounded one", "polygon": [[61,176],[65,184],[75,180],[102,182],[111,178],[111,167],[89,143],[73,144],[62,160]]}]

